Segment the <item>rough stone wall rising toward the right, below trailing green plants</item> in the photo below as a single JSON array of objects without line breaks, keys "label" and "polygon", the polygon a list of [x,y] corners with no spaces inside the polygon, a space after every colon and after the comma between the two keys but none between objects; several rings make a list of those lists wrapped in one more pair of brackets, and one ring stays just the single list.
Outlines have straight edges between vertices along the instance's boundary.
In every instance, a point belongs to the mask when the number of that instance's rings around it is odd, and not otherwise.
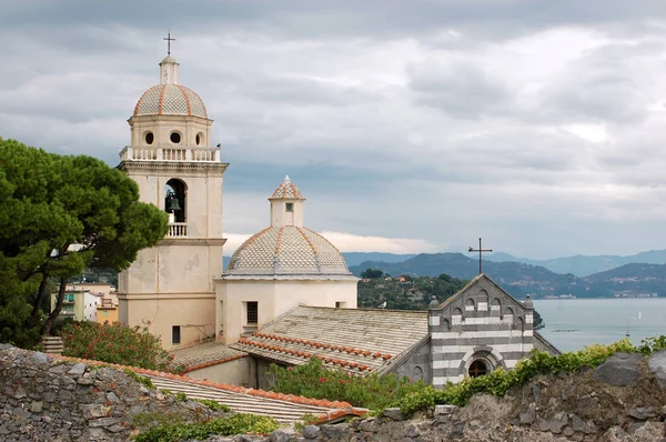
[{"label": "rough stone wall rising toward the right, below trailing green plants", "polygon": [[666,442],[665,419],[666,350],[649,360],[618,353],[595,370],[537,376],[504,398],[477,394],[464,408],[437,405],[408,420],[389,409],[380,418],[208,442]]}]

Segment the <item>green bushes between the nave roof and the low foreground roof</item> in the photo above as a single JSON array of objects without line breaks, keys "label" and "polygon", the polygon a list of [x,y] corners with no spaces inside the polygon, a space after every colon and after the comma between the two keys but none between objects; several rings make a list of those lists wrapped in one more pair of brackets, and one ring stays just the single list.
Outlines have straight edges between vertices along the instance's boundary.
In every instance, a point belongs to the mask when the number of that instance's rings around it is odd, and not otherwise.
[{"label": "green bushes between the nave roof and the low foreground roof", "polygon": [[342,370],[327,370],[317,359],[306,364],[283,368],[271,365],[269,373],[274,381],[270,390],[330,401],[344,401],[355,406],[383,410],[410,392],[424,388],[424,383],[411,382],[394,374],[377,376],[352,375]]}]

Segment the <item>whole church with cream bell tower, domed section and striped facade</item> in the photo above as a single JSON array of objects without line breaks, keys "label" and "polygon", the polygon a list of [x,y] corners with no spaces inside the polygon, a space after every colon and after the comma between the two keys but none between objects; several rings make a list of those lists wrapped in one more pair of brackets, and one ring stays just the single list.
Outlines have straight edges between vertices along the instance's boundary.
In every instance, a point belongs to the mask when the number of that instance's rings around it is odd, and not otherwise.
[{"label": "whole church with cream bell tower, domed section and striped facade", "polygon": [[534,349],[533,308],[480,274],[428,311],[357,309],[342,253],[304,224],[305,198],[289,177],[270,195],[270,224],[223,269],[223,174],[206,108],[160,62],[160,83],[129,119],[119,169],[140,199],[169,213],[169,232],[119,275],[119,320],[160,336],[188,375],[265,388],[271,363],[396,373],[435,386],[511,369]]}]

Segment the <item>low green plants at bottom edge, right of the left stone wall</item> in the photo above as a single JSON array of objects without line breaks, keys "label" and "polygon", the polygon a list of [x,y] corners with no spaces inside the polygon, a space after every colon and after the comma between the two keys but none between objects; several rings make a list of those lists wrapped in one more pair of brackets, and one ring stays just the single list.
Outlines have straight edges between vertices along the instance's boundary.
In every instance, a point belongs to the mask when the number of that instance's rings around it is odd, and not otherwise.
[{"label": "low green plants at bottom edge, right of the left stone wall", "polygon": [[[134,435],[133,440],[135,442],[202,440],[214,434],[269,434],[280,428],[278,421],[272,418],[242,413],[211,419],[208,422],[195,423],[170,422],[168,420],[157,420],[154,418],[152,420],[140,420],[140,423],[144,423],[145,421],[149,421],[149,424],[152,424],[155,421],[159,423],[155,426],[148,428]],[[134,418],[134,423],[137,424],[137,418]]]}]

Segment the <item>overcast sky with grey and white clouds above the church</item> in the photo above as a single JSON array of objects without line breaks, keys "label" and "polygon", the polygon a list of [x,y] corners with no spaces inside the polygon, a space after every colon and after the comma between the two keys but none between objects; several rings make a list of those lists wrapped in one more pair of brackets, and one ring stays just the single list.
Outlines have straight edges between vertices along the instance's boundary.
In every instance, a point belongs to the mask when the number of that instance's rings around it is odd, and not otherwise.
[{"label": "overcast sky with grey and white clouds above the church", "polygon": [[664,0],[0,0],[0,137],[115,165],[168,29],[226,252],[287,173],[343,251],[666,249]]}]

